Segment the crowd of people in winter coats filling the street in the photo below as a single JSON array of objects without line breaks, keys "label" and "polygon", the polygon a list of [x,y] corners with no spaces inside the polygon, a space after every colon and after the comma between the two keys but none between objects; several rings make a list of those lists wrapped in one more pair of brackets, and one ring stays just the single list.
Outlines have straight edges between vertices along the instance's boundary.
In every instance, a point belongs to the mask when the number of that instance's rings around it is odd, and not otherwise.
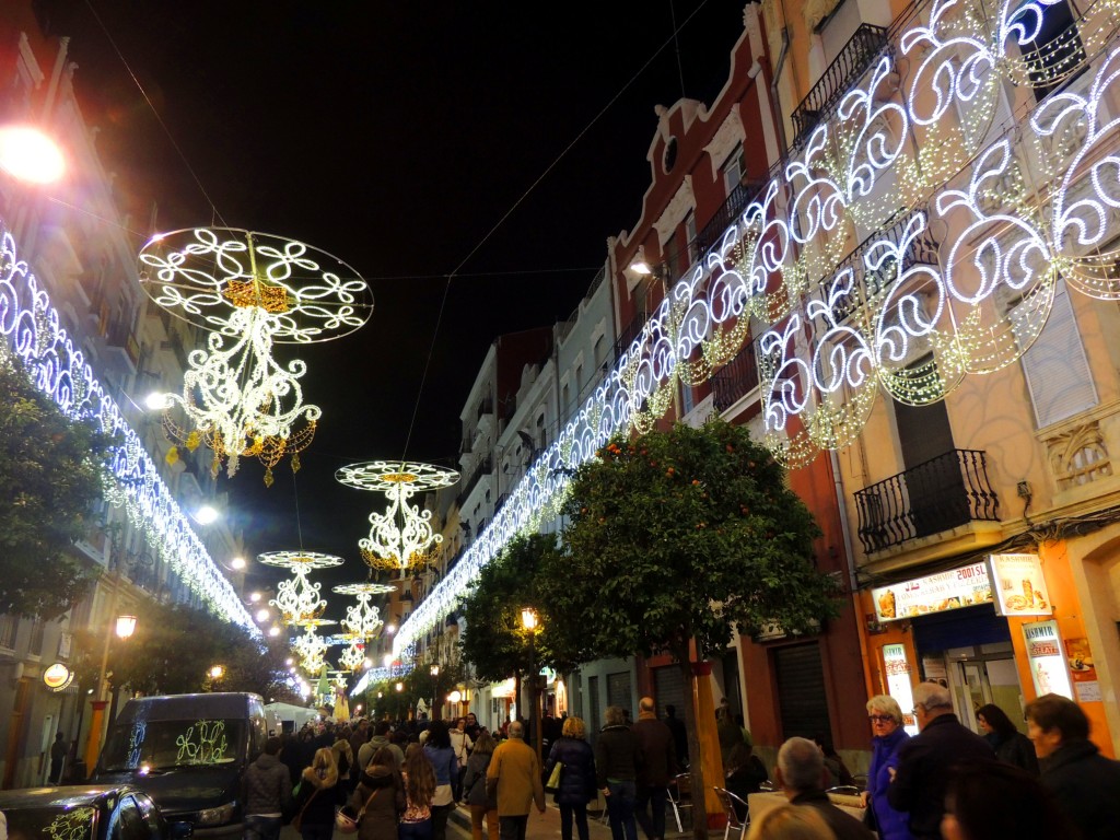
[{"label": "crowd of people in winter coats filling the street", "polygon": [[[778,749],[773,787],[786,804],[749,820],[752,793],[769,786],[749,731],[717,711],[724,786],[747,840],[986,840],[1120,837],[1120,763],[1100,755],[1089,720],[1065,698],[1047,694],[1026,708],[1027,735],[998,706],[977,710],[983,736],[953,712],[946,688],[914,691],[918,734],[904,729],[886,694],[867,703],[871,759],[858,820],[828,790],[855,784],[821,738],[794,737]],[[524,840],[529,816],[560,812],[561,840],[589,840],[592,803],[609,816],[613,840],[664,840],[668,791],[687,766],[687,738],[674,713],[659,719],[642,698],[638,718],[612,706],[594,748],[584,721],[567,717],[545,738],[543,766],[521,721],[489,732],[474,715],[455,721],[320,722],[270,738],[246,774],[249,840],[277,840],[291,820],[302,840],[329,840],[336,810],[357,825],[357,840],[445,840],[456,803],[469,808],[473,840]],[[542,727],[542,734],[544,732]],[[683,739],[683,748],[682,748]],[[709,781],[711,784],[711,781]],[[872,833],[872,831],[875,833]]]}]

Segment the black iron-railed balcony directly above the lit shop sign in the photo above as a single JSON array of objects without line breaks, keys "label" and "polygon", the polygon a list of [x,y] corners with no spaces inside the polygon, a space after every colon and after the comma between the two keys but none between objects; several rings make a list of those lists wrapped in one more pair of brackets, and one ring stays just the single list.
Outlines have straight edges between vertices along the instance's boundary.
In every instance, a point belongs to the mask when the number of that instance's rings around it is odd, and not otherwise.
[{"label": "black iron-railed balcony directly above the lit shop sign", "polygon": [[969,522],[999,521],[987,456],[977,449],[953,449],[853,496],[867,554]]}]

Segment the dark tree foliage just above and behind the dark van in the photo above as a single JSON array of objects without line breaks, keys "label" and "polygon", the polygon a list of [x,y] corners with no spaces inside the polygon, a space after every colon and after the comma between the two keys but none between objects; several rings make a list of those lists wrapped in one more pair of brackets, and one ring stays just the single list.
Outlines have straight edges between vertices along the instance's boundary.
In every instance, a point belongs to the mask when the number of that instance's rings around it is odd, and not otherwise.
[{"label": "dark tree foliage just above and behind the dark van", "polygon": [[[118,687],[144,694],[252,691],[270,700],[295,701],[286,687],[284,643],[253,638],[235,624],[181,605],[148,603],[138,610],[131,638],[112,640],[109,670]],[[222,665],[215,682],[207,674]]]}]

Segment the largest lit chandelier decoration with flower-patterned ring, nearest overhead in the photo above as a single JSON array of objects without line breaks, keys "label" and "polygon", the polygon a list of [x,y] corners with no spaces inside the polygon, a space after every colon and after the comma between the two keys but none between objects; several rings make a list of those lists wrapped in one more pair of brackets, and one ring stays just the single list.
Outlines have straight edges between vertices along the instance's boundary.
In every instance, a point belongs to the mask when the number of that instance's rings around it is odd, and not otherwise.
[{"label": "largest lit chandelier decoration with flower-patterned ring, nearest overhead", "polygon": [[[321,411],[304,403],[307,364],[287,366],[276,344],[307,345],[347,335],[373,311],[370,287],[340,260],[302,242],[228,227],[194,227],[152,237],[140,251],[140,277],[165,310],[208,330],[192,351],[181,394],[165,396],[168,436],[194,451],[214,451],[233,476],[242,457],[272,467],[315,436]],[[174,410],[186,416],[180,424]]]}]

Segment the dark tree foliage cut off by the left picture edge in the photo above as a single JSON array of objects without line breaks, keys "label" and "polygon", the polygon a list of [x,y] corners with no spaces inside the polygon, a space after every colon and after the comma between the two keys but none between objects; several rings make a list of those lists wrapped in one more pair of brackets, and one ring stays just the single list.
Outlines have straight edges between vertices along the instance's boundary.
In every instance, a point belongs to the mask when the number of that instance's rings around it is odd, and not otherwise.
[{"label": "dark tree foliage cut off by the left picture edge", "polygon": [[0,613],[55,618],[90,590],[96,575],[71,548],[90,531],[108,447],[0,356]]}]

